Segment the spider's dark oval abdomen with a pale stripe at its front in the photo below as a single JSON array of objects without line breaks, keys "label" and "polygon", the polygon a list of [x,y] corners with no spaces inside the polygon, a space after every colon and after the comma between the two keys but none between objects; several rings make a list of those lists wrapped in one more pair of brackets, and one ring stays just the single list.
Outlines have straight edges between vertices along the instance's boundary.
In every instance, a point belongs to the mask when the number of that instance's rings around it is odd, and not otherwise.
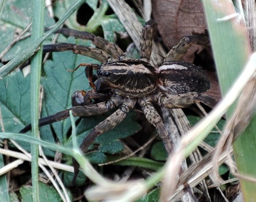
[{"label": "spider's dark oval abdomen with a pale stripe at its front", "polygon": [[210,82],[199,66],[182,61],[167,61],[158,68],[158,86],[173,94],[201,93],[210,88]]}]

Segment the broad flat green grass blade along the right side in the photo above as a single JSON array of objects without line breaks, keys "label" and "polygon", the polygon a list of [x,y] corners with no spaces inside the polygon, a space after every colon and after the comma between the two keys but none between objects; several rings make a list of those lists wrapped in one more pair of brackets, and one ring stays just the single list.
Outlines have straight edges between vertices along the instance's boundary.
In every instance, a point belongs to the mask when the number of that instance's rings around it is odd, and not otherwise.
[{"label": "broad flat green grass blade along the right side", "polygon": [[[242,17],[236,13],[232,2],[204,0],[203,3],[221,91],[225,95],[249,58],[248,34]],[[233,113],[234,107],[235,105],[232,105],[229,108],[228,118]],[[254,118],[242,136],[233,144],[239,172],[254,177],[256,177],[255,131]],[[245,201],[256,198],[256,184],[244,180],[240,183]]]}]

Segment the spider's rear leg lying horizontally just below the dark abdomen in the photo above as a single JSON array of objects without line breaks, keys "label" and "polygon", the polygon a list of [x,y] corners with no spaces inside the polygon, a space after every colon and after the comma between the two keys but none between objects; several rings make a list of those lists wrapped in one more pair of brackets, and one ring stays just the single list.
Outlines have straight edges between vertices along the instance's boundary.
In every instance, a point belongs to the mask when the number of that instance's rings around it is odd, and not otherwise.
[{"label": "spider's rear leg lying horizontally just below the dark abdomen", "polygon": [[217,104],[217,101],[214,98],[195,92],[180,95],[165,95],[159,98],[159,103],[161,103],[162,106],[170,109],[186,108],[196,102],[203,102],[211,108]]}]

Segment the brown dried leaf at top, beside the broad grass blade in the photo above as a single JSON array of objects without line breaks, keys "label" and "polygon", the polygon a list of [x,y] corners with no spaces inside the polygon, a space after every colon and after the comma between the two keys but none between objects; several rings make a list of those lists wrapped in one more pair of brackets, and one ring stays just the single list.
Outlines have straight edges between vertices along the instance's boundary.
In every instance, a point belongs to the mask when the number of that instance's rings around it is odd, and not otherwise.
[{"label": "brown dried leaf at top, beside the broad grass blade", "polygon": [[183,36],[205,32],[206,23],[200,0],[152,0],[152,8],[163,42],[169,47],[173,47]]}]

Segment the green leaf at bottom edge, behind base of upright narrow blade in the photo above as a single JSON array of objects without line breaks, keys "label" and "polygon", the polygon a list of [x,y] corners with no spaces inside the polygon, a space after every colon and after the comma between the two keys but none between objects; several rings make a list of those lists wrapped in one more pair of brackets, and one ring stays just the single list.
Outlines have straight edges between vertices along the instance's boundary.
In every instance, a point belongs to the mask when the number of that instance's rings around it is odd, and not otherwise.
[{"label": "green leaf at bottom edge, behind base of upright narrow blade", "polygon": [[[46,185],[45,183],[39,182],[39,200],[44,202],[58,202],[62,201],[57,191],[51,187]],[[32,187],[31,186],[23,186],[19,189],[20,195],[22,196],[22,201],[30,202],[33,201],[32,198]]]}]

